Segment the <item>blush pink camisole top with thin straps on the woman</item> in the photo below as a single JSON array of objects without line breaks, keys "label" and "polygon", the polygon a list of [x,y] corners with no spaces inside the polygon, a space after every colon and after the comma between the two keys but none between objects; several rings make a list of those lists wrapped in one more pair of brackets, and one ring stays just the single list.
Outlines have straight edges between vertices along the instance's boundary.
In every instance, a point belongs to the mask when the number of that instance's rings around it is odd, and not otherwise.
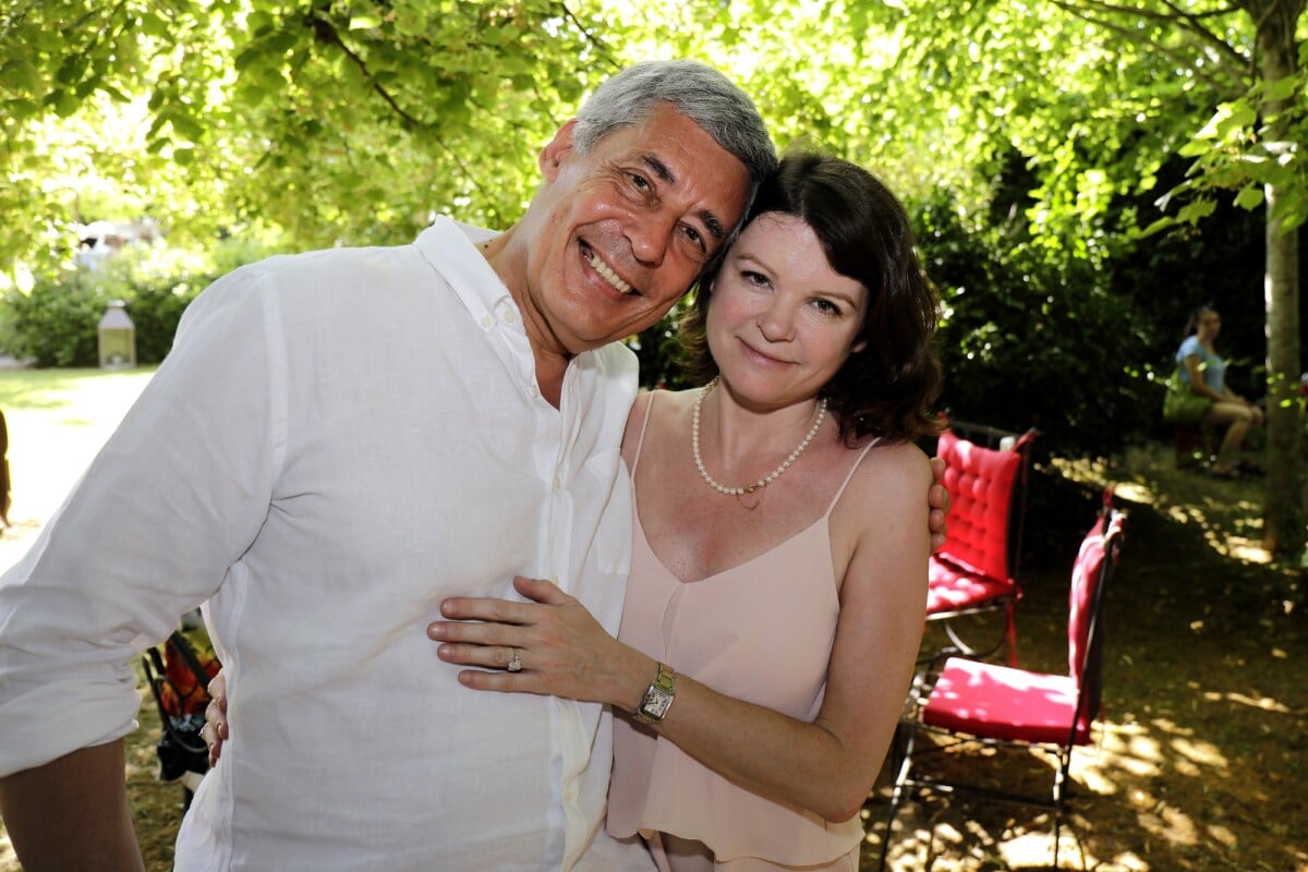
[{"label": "blush pink camisole top with thin straps on the woman", "polygon": [[[644,442],[642,431],[633,480]],[[681,582],[663,566],[634,512],[632,574],[619,639],[714,690],[811,722],[821,707],[840,616],[831,510],[867,448],[812,526],[697,582]],[[620,838],[662,831],[696,839],[718,862],[752,856],[783,865],[837,860],[863,838],[857,816],[832,824],[763,797],[627,718],[613,719],[607,826]]]}]

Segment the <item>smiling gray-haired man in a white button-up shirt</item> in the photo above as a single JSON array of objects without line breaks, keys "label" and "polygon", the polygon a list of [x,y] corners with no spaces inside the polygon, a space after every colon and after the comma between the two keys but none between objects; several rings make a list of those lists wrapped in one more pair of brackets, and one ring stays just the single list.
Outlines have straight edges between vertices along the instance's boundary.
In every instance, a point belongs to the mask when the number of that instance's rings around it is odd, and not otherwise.
[{"label": "smiling gray-haired man in a white button-up shirt", "polygon": [[603,833],[600,706],[467,693],[424,629],[514,575],[617,629],[636,360],[613,340],[689,288],[776,153],[738,88],[668,61],[606,82],[539,162],[501,235],[442,218],[273,258],[187,311],[0,580],[0,812],[30,872],[140,868],[131,662],[201,601],[232,740],[178,871],[649,868]]}]

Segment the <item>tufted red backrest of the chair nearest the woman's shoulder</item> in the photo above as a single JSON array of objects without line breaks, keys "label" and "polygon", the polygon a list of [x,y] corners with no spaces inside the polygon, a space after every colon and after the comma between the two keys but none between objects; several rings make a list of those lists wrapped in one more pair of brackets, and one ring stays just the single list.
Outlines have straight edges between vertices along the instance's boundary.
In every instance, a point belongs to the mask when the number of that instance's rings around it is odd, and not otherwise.
[{"label": "tufted red backrest of the chair nearest the woman's shoulder", "polygon": [[954,430],[940,434],[935,452],[944,460],[944,488],[951,499],[950,535],[937,554],[982,575],[1008,580],[1012,497],[1025,455],[985,448],[960,439]]}]

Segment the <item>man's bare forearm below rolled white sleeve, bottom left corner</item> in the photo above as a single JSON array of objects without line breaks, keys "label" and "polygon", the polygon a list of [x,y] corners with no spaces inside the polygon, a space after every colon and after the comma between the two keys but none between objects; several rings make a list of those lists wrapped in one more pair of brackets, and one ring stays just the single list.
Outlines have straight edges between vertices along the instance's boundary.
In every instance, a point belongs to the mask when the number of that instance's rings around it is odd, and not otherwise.
[{"label": "man's bare forearm below rolled white sleeve, bottom left corner", "polygon": [[26,872],[143,872],[123,741],[0,778],[0,817]]}]

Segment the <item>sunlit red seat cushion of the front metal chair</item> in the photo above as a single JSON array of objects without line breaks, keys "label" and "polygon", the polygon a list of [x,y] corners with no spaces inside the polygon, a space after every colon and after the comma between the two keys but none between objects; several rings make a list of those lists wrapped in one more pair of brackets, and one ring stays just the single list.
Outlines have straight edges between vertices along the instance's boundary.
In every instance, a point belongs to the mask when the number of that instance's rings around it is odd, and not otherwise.
[{"label": "sunlit red seat cushion of the front metal chair", "polygon": [[[1007,741],[1063,745],[1076,718],[1071,676],[950,658],[935,682],[922,722],[943,729]],[[1076,726],[1074,744],[1090,741],[1091,718]]]}]

